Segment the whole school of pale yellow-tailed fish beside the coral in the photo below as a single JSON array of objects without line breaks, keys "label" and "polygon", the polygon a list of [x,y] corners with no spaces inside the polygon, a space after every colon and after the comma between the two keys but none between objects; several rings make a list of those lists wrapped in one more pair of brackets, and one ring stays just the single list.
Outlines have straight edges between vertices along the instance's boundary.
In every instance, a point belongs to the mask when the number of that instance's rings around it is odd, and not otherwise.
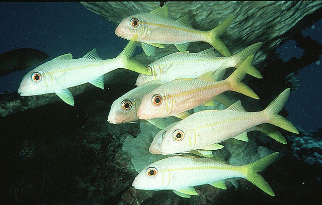
[{"label": "whole school of pale yellow-tailed fish beside the coral", "polygon": [[[28,72],[18,93],[22,96],[56,93],[73,106],[69,87],[89,82],[104,89],[106,73],[117,68],[138,72],[138,87],[113,102],[108,122],[119,124],[141,120],[156,126],[160,131],[149,151],[175,156],[146,166],[135,177],[134,188],[167,189],[189,198],[198,195],[194,186],[210,184],[226,189],[225,179],[243,177],[274,196],[274,191],[258,172],[271,164],[278,152],[243,166],[228,165],[224,156],[212,154],[213,150],[223,148],[221,142],[248,142],[247,133],[251,131],[261,131],[282,144],[287,143],[286,139],[275,126],[298,134],[287,119],[278,115],[289,97],[290,88],[259,112],[247,112],[240,100],[232,102],[225,95],[224,92],[230,90],[259,99],[241,80],[246,74],[262,78],[251,65],[261,42],[231,55],[219,39],[233,20],[232,16],[210,31],[199,31],[192,28],[188,16],[178,20],[168,18],[165,6],[150,13],[129,16],[115,30],[118,37],[130,40],[116,58],[103,60],[96,49],[79,59],[72,59],[69,53],[58,56]],[[207,42],[213,48],[189,53],[189,43],[196,41]],[[174,44],[179,52],[143,66],[131,59],[137,42],[141,43],[147,56],[153,55],[155,47],[164,48],[165,44]],[[223,56],[216,56],[214,49]],[[226,69],[231,67],[235,70],[222,79]],[[214,106],[214,100],[227,109],[189,112],[200,105]],[[166,125],[165,121],[171,116],[177,117],[178,121]]]}]

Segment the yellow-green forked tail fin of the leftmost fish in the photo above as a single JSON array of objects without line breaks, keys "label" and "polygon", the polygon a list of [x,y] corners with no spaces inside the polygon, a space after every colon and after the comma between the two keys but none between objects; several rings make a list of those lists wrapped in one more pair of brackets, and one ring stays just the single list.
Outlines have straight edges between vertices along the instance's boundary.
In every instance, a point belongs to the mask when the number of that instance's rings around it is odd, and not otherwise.
[{"label": "yellow-green forked tail fin of the leftmost fish", "polygon": [[141,63],[137,62],[136,60],[132,60],[131,57],[134,54],[136,44],[135,41],[137,39],[137,34],[133,36],[130,42],[126,45],[124,50],[117,56],[117,58],[121,58],[124,63],[124,68],[128,70],[133,70],[138,73],[151,75],[152,73]]}]

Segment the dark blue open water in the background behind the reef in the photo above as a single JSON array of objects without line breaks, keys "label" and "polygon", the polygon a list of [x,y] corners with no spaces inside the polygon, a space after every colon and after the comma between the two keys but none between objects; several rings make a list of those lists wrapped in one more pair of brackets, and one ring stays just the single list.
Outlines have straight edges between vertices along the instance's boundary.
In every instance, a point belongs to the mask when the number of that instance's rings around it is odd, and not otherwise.
[{"label": "dark blue open water in the background behind the reef", "polygon": [[[99,56],[106,59],[117,56],[127,43],[114,34],[116,25],[78,3],[0,3],[0,8],[0,53],[17,48],[35,48],[50,58],[65,53],[79,58],[97,48]],[[321,24],[322,20],[319,20],[309,26],[303,35],[321,43]],[[285,61],[303,53],[296,48],[294,41],[282,45],[277,52]],[[320,62],[322,59],[299,70],[300,86],[290,95],[285,106],[290,114],[289,120],[307,131],[322,125]],[[16,91],[26,72],[0,77],[0,93]]]}]

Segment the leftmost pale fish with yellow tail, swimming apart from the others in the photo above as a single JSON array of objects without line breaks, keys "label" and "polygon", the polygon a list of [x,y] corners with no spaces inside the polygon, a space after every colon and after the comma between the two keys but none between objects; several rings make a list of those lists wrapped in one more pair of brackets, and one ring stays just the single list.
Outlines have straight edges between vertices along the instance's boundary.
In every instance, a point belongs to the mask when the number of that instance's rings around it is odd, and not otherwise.
[{"label": "leftmost pale fish with yellow tail, swimming apart from the others", "polygon": [[137,44],[135,38],[116,58],[103,60],[93,49],[83,58],[72,59],[72,55],[67,53],[47,61],[23,77],[18,93],[21,96],[56,93],[64,102],[73,106],[74,98],[69,87],[89,82],[104,89],[104,74],[117,68],[151,74],[145,66],[130,59]]}]

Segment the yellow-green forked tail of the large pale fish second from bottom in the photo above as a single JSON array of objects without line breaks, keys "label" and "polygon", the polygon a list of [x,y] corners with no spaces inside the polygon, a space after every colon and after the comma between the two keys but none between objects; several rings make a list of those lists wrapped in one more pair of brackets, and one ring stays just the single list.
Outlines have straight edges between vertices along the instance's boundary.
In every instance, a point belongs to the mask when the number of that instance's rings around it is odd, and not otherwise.
[{"label": "yellow-green forked tail of the large pale fish second from bottom", "polygon": [[269,122],[272,125],[283,128],[292,133],[298,134],[295,126],[285,119],[283,116],[278,115],[278,113],[283,109],[290,95],[291,89],[286,88],[281,94],[279,94],[271,103],[267,106],[267,108],[263,111],[269,116]]}]

